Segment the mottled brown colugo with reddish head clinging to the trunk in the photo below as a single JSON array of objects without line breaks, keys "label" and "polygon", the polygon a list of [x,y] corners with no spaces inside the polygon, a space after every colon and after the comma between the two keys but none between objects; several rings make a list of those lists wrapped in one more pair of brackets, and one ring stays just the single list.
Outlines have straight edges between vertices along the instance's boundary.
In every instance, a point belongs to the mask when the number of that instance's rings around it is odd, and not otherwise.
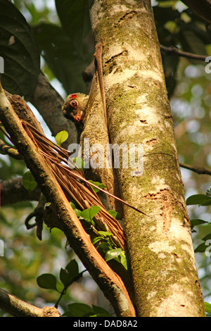
[{"label": "mottled brown colugo with reddish head clinging to the trunk", "polygon": [[[119,196],[117,185],[115,184],[114,169],[106,167],[106,146],[109,144],[109,137],[97,72],[94,74],[89,96],[82,93],[68,95],[63,104],[62,111],[65,118],[75,123],[78,143],[82,147],[82,158],[84,154],[89,155],[90,166],[84,169],[85,177],[89,180],[94,180],[94,182],[102,182],[106,185],[108,192]],[[84,146],[84,139],[86,138],[89,138],[89,151],[87,151],[87,144]],[[101,144],[103,149],[92,151],[91,146],[95,146],[95,144]],[[98,154],[98,159],[104,159],[105,166],[103,168],[101,166],[97,168],[91,166],[91,160],[95,158],[96,153]],[[98,160],[96,160],[97,162]],[[118,201],[115,201],[115,199],[102,192],[98,194],[99,196],[103,196],[101,201],[103,201],[104,206],[106,205],[108,210],[115,209],[116,211],[120,211],[121,209],[122,211],[122,206],[120,206]],[[120,208],[118,208],[119,206]]]}]

